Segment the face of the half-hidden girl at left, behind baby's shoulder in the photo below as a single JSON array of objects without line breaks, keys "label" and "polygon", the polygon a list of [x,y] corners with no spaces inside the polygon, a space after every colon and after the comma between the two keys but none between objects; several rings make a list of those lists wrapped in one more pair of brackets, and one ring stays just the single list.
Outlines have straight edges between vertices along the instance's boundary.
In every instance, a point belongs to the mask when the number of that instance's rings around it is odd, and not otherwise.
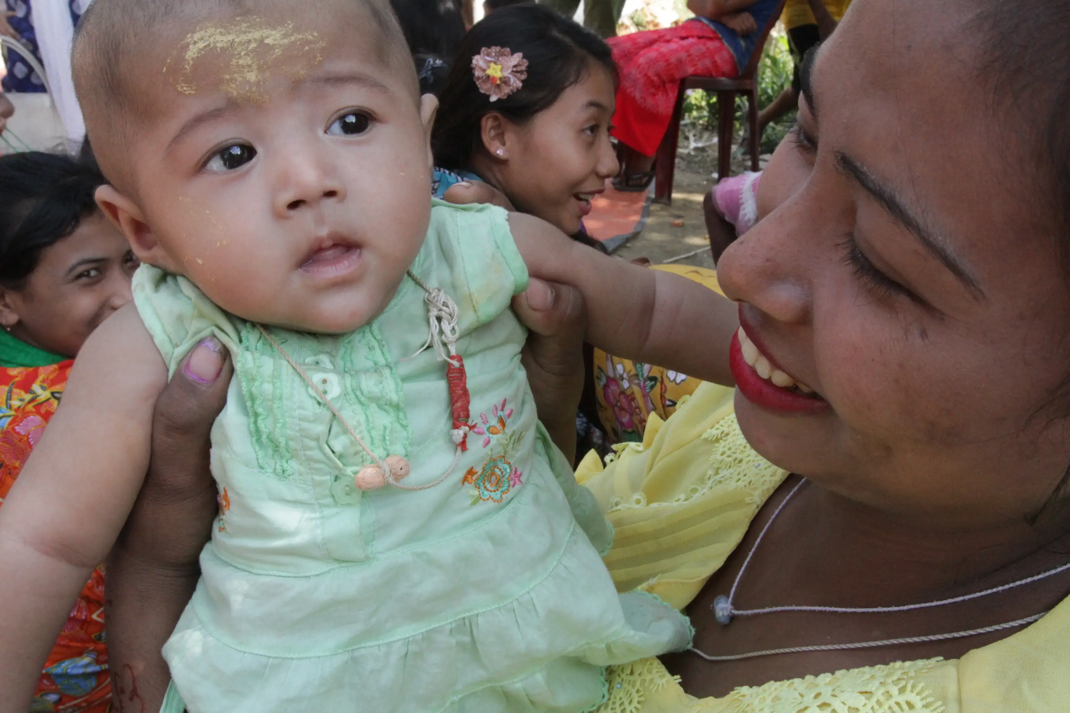
[{"label": "face of the half-hidden girl at left, behind baby's shoulder", "polygon": [[138,261],[101,213],[45,248],[21,290],[0,289],[0,322],[27,344],[73,357],[112,312],[131,301]]}]

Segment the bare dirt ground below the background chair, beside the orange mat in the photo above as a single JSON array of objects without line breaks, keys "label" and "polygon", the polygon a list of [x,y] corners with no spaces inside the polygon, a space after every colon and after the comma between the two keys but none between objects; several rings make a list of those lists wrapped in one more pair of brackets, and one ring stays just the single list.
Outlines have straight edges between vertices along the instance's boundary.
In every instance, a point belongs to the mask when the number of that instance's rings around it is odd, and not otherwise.
[{"label": "bare dirt ground below the background chair, beside the orange mat", "polygon": [[[649,258],[651,262],[663,263],[672,258],[699,250],[672,262],[696,267],[713,267],[709,255],[709,236],[702,215],[702,199],[714,185],[713,172],[717,165],[716,144],[692,154],[681,154],[676,158],[676,177],[673,182],[672,205],[654,203],[643,232],[622,246],[614,254],[625,260]],[[762,157],[762,164],[767,156]],[[749,161],[747,161],[749,164]],[[744,160],[734,158],[733,174],[749,169]],[[682,227],[672,224],[683,220]]]}]

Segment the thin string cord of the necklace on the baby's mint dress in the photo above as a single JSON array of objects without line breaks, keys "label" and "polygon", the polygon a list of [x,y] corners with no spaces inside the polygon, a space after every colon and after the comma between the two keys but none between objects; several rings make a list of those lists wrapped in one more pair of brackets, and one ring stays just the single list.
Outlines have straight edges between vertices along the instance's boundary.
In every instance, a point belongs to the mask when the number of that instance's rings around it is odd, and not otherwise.
[{"label": "thin string cord of the necklace on the baby's mint dress", "polygon": [[[446,293],[443,290],[438,288],[431,289],[427,286],[427,284],[425,284],[424,281],[421,280],[412,270],[407,270],[406,274],[413,280],[413,282],[419,285],[426,293],[424,295],[424,300],[428,305],[428,321],[430,323],[429,325],[430,332],[428,335],[427,342],[425,342],[424,346],[421,347],[419,351],[417,351],[416,354],[413,354],[412,356],[416,356],[417,354],[426,350],[428,346],[433,346],[435,355],[441,360],[446,361],[452,367],[455,368],[459,367],[461,361],[460,357],[457,356],[457,348],[455,346],[458,337],[457,306],[449,298],[449,296],[446,295]],[[331,400],[327,399],[326,396],[316,386],[316,383],[312,382],[312,379],[308,376],[304,368],[302,368],[302,366],[297,363],[297,361],[292,356],[290,356],[286,350],[282,348],[282,346],[275,340],[274,337],[271,336],[271,334],[262,324],[256,323],[256,325],[257,329],[260,330],[260,334],[263,335],[263,338],[268,340],[268,342],[275,348],[275,351],[278,352],[279,355],[281,355],[281,357],[286,360],[286,362],[289,363],[291,368],[293,368],[293,370],[297,373],[297,375],[301,376],[302,381],[304,381],[308,385],[308,387],[312,390],[312,392],[319,397],[320,401],[323,402],[323,404],[327,407],[331,414],[336,419],[338,419],[338,422],[342,424],[342,428],[346,429],[350,437],[352,437],[353,440],[356,441],[356,445],[361,447],[361,449],[365,452],[365,454],[367,454],[369,459],[371,459],[372,463],[374,463],[376,467],[379,468],[379,471],[382,474],[383,479],[387,483],[402,491],[410,491],[410,492],[426,491],[437,485],[441,485],[443,482],[446,481],[446,479],[449,478],[449,476],[453,475],[454,470],[457,468],[457,464],[460,463],[461,453],[463,452],[463,448],[460,445],[461,436],[464,435],[463,433],[458,434],[455,433],[454,431],[450,432],[450,436],[454,438],[456,444],[456,448],[454,449],[454,460],[449,464],[449,467],[446,468],[446,471],[442,474],[442,476],[423,485],[401,484],[398,481],[398,479],[394,477],[389,465],[387,465],[386,463],[386,460],[379,458],[370,448],[368,448],[367,444],[364,443],[364,439],[361,438],[361,436],[356,433],[356,430],[352,425],[350,425],[349,421],[346,420],[346,417],[341,415],[341,412],[339,412],[338,408],[335,407],[333,403],[331,403]]]}]

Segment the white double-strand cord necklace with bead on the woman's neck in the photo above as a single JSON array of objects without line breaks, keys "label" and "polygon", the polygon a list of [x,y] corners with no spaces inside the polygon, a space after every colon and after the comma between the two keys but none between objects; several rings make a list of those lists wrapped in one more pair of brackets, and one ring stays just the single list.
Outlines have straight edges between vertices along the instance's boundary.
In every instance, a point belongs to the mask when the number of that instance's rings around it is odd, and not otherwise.
[{"label": "white double-strand cord necklace with bead on the woman's neck", "polygon": [[[754,557],[754,552],[758,551],[758,546],[762,543],[762,539],[765,533],[769,531],[769,527],[773,525],[774,521],[777,520],[777,515],[780,511],[784,509],[788,501],[794,497],[795,493],[798,492],[807,480],[802,479],[792,489],[777,509],[773,512],[773,516],[769,517],[765,527],[759,533],[758,539],[754,541],[753,546],[751,546],[750,552],[747,554],[747,558],[743,562],[743,567],[739,568],[739,573],[736,574],[735,582],[732,583],[732,589],[729,591],[729,595],[719,595],[714,600],[714,604],[710,607],[714,610],[714,616],[717,622],[722,626],[728,626],[732,623],[732,619],[735,617],[751,617],[760,614],[773,614],[775,611],[825,611],[831,614],[888,614],[892,611],[910,611],[912,609],[924,609],[933,606],[944,606],[946,604],[957,604],[959,602],[966,602],[973,599],[979,599],[981,596],[987,596],[989,594],[997,594],[1008,589],[1013,589],[1015,587],[1021,587],[1023,585],[1031,584],[1034,582],[1039,582],[1040,579],[1045,579],[1048,577],[1054,576],[1060,572],[1070,570],[1070,564],[1063,564],[1056,567],[1046,572],[1034,575],[1031,577],[1026,577],[1024,579],[1019,579],[1018,582],[1012,582],[1007,585],[1002,585],[999,587],[993,587],[991,589],[985,589],[983,591],[974,592],[973,594],[964,594],[962,596],[953,596],[951,599],[938,600],[935,602],[924,602],[922,604],[908,604],[905,606],[875,606],[875,607],[839,607],[839,606],[770,606],[762,609],[737,609],[733,606],[733,601],[735,601],[736,590],[739,588],[739,580],[743,579],[744,572],[747,571],[747,567],[750,564],[750,560]],[[739,661],[742,658],[756,658],[759,656],[771,656],[778,653],[798,653],[804,651],[839,651],[844,649],[870,649],[882,646],[895,646],[900,644],[916,644],[920,641],[942,641],[946,639],[963,638],[966,636],[977,636],[979,634],[988,634],[991,632],[997,632],[1004,629],[1012,629],[1014,626],[1021,626],[1023,624],[1033,623],[1039,620],[1041,617],[1046,615],[1048,611],[1042,611],[1040,614],[1035,614],[1030,617],[1025,617],[1024,619],[1018,619],[1015,621],[1008,621],[1003,624],[994,624],[992,626],[983,626],[981,629],[970,629],[963,632],[952,632],[949,634],[932,634],[929,636],[912,636],[907,638],[897,638],[897,639],[882,639],[877,641],[859,641],[855,644],[826,644],[819,646],[802,646],[802,647],[791,647],[785,649],[767,649],[765,651],[752,651],[750,653],[740,653],[729,656],[710,656],[709,654],[699,651],[694,647],[688,649],[693,653],[702,656],[706,661]]]}]

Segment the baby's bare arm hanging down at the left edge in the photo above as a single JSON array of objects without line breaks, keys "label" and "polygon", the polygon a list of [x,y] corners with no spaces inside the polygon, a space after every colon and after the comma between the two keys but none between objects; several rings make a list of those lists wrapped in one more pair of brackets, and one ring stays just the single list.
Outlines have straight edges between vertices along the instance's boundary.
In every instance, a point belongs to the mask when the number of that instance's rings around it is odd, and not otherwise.
[{"label": "baby's bare arm hanging down at the left edge", "polygon": [[104,561],[149,464],[167,368],[133,305],[78,355],[63,399],[0,508],[0,713],[30,707],[41,667]]}]

